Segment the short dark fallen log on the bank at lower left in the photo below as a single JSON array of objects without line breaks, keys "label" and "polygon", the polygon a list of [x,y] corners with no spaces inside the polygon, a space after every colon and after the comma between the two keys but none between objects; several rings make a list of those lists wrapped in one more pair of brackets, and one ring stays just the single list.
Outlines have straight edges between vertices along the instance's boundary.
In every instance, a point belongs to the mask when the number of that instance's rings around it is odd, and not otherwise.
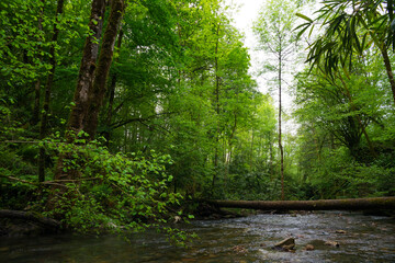
[{"label": "short dark fallen log on the bank at lower left", "polygon": [[44,217],[40,214],[32,211],[21,211],[21,210],[0,210],[0,218],[10,218],[10,219],[23,219],[27,221],[37,222],[42,226],[58,229],[61,224],[55,219]]}]

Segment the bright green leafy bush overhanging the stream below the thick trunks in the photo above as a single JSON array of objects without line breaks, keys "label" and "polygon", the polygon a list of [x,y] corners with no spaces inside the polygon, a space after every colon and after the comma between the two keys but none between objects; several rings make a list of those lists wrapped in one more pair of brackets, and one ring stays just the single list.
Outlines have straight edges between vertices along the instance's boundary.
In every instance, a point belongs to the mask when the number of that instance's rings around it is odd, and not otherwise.
[{"label": "bright green leafy bush overhanging the stream below the thick trunks", "polygon": [[54,199],[47,202],[55,205],[47,216],[61,215],[65,225],[77,231],[143,230],[166,222],[167,207],[181,199],[168,190],[172,181],[165,170],[171,163],[169,156],[151,151],[149,158],[136,153],[127,157],[113,155],[97,141],[76,142],[47,144],[67,157],[63,159],[64,172],[78,174],[65,187],[49,190],[48,196]]}]

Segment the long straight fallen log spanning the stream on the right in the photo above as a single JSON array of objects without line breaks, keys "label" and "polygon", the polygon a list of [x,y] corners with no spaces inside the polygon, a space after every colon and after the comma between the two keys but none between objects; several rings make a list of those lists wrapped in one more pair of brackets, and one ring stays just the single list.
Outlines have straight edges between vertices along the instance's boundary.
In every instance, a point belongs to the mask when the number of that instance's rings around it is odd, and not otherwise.
[{"label": "long straight fallen log spanning the stream on the right", "polygon": [[374,198],[318,199],[318,201],[207,201],[227,208],[261,210],[370,210],[395,209],[395,196]]}]

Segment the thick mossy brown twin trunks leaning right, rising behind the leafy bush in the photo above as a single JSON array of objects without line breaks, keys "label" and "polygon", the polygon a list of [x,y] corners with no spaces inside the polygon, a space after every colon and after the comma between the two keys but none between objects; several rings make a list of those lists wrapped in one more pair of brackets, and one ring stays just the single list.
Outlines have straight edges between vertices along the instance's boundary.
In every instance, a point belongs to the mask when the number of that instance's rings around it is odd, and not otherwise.
[{"label": "thick mossy brown twin trunks leaning right, rising behind the leafy bush", "polygon": [[[92,139],[98,127],[99,112],[105,94],[105,83],[112,64],[114,43],[119,33],[125,3],[123,0],[111,1],[111,13],[99,55],[98,39],[102,32],[104,9],[104,0],[93,0],[89,24],[93,35],[87,37],[83,49],[74,98],[74,107],[71,108],[68,121],[68,133],[66,134],[66,140],[68,142],[72,142],[75,136],[82,130],[88,133],[88,139]],[[64,161],[68,159],[75,158],[71,157],[71,153],[63,153],[59,157],[55,173],[56,180],[76,180],[79,178],[79,171],[76,169],[66,169],[67,171],[65,172]],[[60,190],[60,192],[63,191],[64,190]]]}]

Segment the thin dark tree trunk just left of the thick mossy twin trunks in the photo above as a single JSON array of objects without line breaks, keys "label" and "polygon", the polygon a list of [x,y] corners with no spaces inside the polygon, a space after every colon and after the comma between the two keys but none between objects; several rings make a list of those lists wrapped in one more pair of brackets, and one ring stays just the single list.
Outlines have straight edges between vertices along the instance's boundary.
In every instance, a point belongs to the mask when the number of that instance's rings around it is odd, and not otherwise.
[{"label": "thin dark tree trunk just left of the thick mossy twin trunks", "polygon": [[[59,28],[57,27],[59,23],[59,15],[63,13],[64,9],[64,0],[58,0],[57,8],[56,8],[56,21],[54,23],[54,34],[52,37],[52,45],[49,49],[49,65],[52,66],[47,81],[45,84],[45,96],[44,96],[44,103],[43,103],[43,114],[41,118],[41,125],[40,125],[40,139],[44,139],[47,134],[47,123],[48,123],[48,113],[49,113],[49,103],[50,103],[50,93],[52,88],[54,84],[54,76],[55,76],[55,69],[56,69],[56,42],[59,35]],[[40,82],[38,82],[40,85]],[[40,87],[38,87],[40,89]],[[40,92],[40,90],[38,90]],[[40,157],[38,157],[38,182],[44,182],[45,180],[45,148],[40,148]]]}]

